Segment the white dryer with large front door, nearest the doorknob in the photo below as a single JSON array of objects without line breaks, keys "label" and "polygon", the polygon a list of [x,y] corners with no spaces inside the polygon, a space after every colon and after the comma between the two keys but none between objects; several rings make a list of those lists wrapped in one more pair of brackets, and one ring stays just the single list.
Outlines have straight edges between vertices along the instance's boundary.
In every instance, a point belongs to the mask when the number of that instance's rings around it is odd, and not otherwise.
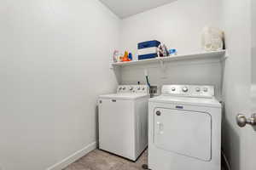
[{"label": "white dryer with large front door, nearest the doorknob", "polygon": [[148,167],[220,170],[221,104],[214,87],[166,85],[148,102]]}]

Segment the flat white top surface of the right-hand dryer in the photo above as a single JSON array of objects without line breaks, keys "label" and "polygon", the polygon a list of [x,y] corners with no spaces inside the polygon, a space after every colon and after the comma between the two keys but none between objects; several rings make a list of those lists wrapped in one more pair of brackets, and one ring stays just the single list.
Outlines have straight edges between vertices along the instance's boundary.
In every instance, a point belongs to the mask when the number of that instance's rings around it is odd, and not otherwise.
[{"label": "flat white top surface of the right-hand dryer", "polygon": [[177,104],[177,105],[198,105],[198,106],[207,106],[207,107],[221,107],[221,104],[214,97],[212,97],[211,99],[205,99],[205,98],[160,95],[158,97],[149,99],[149,102],[171,103],[171,104]]}]

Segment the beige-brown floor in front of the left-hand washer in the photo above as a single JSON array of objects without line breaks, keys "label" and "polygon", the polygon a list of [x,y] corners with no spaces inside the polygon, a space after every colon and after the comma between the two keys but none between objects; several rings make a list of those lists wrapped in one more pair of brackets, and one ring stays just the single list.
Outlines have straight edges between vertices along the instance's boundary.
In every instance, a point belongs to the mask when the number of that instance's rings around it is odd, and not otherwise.
[{"label": "beige-brown floor in front of the left-hand washer", "polygon": [[102,150],[93,150],[63,170],[142,170],[143,164],[148,164],[147,150],[136,162],[113,156]]}]

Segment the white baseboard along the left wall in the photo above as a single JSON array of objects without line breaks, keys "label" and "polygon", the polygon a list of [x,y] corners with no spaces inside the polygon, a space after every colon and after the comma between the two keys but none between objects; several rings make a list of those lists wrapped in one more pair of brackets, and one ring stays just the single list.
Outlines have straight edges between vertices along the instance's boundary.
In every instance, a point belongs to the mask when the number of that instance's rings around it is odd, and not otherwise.
[{"label": "white baseboard along the left wall", "polygon": [[96,149],[96,142],[93,142],[87,146],[85,146],[82,150],[78,150],[73,153],[71,156],[67,156],[67,158],[63,159],[55,163],[55,165],[48,167],[46,170],[61,170],[64,167],[67,167],[69,164],[73,163],[74,161],[79,160],[79,158],[88,154],[91,150]]}]

